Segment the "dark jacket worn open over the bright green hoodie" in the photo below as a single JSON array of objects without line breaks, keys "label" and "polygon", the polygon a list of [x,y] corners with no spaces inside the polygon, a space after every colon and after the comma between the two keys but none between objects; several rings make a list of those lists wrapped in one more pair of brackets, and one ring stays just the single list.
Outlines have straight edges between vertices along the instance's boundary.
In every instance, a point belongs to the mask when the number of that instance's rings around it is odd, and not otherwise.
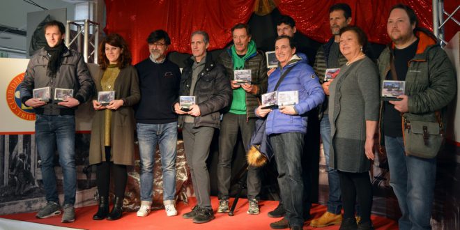
[{"label": "dark jacket worn open over the bright green hoodie", "polygon": [[[217,58],[217,62],[224,66],[227,77],[233,80],[233,59],[231,58],[231,46],[227,47]],[[257,87],[256,93],[246,92],[246,116],[256,118],[254,109],[260,105],[260,95],[267,91],[267,62],[263,52],[257,50],[253,56],[245,61],[245,69],[251,70],[251,82]]]}]

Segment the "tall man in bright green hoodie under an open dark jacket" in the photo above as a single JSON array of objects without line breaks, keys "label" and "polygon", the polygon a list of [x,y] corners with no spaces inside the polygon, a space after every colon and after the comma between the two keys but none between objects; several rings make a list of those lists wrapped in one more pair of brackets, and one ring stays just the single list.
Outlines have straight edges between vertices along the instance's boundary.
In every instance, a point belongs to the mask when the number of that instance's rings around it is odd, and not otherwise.
[{"label": "tall man in bright green hoodie under an open dark jacket", "polygon": [[[227,70],[231,80],[233,100],[229,112],[224,114],[220,124],[219,163],[217,164],[217,187],[220,199],[217,213],[229,212],[229,189],[231,179],[231,158],[233,148],[241,132],[245,151],[250,144],[256,115],[254,110],[259,106],[259,97],[267,91],[267,64],[262,52],[256,50],[256,43],[251,40],[249,26],[236,24],[231,29],[233,45],[220,54],[217,62]],[[251,72],[251,81],[238,84],[234,80],[235,72]],[[261,190],[259,169],[249,167],[247,170],[247,198],[250,200],[248,214],[259,214],[257,199]]]}]

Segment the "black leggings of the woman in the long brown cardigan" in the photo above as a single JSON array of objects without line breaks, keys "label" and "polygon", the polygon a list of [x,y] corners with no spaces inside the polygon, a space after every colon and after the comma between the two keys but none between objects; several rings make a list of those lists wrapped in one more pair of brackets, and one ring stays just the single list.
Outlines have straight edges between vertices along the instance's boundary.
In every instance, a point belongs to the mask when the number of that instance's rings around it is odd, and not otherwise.
[{"label": "black leggings of the woman in the long brown cardigan", "polygon": [[115,197],[124,197],[128,171],[126,165],[110,162],[110,147],[105,147],[105,161],[96,164],[96,184],[98,185],[99,196],[109,197],[110,169],[114,174]]}]

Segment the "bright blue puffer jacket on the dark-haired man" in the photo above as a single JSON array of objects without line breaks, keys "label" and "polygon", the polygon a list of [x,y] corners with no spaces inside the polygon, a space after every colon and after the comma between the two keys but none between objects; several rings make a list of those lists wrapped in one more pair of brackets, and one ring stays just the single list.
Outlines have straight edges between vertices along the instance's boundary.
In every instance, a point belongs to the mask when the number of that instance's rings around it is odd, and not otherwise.
[{"label": "bright blue puffer jacket on the dark-haired man", "polygon": [[324,100],[323,88],[318,77],[305,59],[295,55],[284,66],[276,68],[268,79],[268,92],[273,92],[279,77],[289,68],[292,70],[279,84],[277,91],[298,91],[299,103],[294,105],[298,115],[287,115],[273,109],[267,116],[266,135],[301,132],[307,133],[307,112],[316,108]]}]

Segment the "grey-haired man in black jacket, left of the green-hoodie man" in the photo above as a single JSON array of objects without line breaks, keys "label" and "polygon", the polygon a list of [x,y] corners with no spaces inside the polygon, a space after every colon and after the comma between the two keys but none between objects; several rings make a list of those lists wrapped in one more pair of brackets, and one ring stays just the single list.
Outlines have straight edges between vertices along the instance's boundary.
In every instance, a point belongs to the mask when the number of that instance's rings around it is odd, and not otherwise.
[{"label": "grey-haired man in black jacket, left of the green-hoodie man", "polygon": [[187,109],[179,102],[174,104],[175,112],[181,114],[178,125],[182,127],[187,164],[197,197],[197,206],[183,217],[193,219],[194,223],[206,223],[214,219],[206,159],[214,129],[220,125],[220,110],[231,102],[231,88],[224,67],[214,63],[206,52],[208,33],[195,31],[190,45],[193,56],[182,71],[179,95],[194,96],[195,103]]}]

